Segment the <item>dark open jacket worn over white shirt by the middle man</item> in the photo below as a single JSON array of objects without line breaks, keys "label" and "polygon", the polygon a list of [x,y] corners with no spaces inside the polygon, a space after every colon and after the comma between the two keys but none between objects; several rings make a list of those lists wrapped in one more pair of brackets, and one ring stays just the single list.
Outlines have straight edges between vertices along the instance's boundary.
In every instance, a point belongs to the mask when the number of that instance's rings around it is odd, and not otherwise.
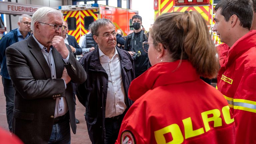
[{"label": "dark open jacket worn over white shirt by the middle man", "polygon": [[[116,48],[120,57],[121,75],[126,94],[126,106],[130,108],[133,101],[128,98],[128,89],[134,79],[134,62],[130,54]],[[78,100],[86,107],[85,120],[90,140],[93,144],[103,144],[105,138],[105,108],[108,88],[108,75],[100,63],[99,49],[84,55],[80,64],[88,74],[83,84],[77,84]]]}]

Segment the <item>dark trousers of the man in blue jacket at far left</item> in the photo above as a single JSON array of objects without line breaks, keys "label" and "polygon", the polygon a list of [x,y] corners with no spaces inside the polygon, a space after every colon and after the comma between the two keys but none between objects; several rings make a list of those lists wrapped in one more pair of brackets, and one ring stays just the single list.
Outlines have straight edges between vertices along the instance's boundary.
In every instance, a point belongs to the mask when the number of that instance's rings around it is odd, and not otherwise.
[{"label": "dark trousers of the man in blue jacket at far left", "polygon": [[13,107],[14,107],[15,90],[12,85],[12,80],[2,77],[2,83],[4,86],[4,95],[6,100],[7,122],[8,122],[9,130],[12,131],[12,115],[13,115]]}]

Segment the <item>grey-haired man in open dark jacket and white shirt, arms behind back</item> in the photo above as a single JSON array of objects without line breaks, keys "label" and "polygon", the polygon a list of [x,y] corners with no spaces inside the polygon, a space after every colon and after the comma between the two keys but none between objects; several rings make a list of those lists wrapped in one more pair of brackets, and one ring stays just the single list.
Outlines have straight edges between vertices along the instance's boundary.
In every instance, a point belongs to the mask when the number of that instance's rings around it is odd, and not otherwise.
[{"label": "grey-haired man in open dark jacket and white shirt, arms behind back", "polygon": [[98,46],[79,60],[88,79],[77,85],[76,94],[86,107],[85,120],[92,143],[113,144],[133,103],[128,98],[128,88],[135,77],[134,63],[127,51],[116,48],[115,27],[110,20],[96,20],[91,31]]}]

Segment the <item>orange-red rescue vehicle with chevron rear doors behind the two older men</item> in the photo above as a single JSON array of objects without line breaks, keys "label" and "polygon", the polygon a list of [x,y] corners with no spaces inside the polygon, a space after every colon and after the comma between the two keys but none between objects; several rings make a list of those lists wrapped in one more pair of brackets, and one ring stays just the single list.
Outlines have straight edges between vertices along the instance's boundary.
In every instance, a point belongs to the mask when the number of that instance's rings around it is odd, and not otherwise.
[{"label": "orange-red rescue vehicle with chevron rear doors behind the two older men", "polygon": [[77,42],[82,35],[89,32],[89,24],[93,21],[106,18],[112,21],[116,30],[121,29],[124,36],[133,32],[132,16],[138,11],[105,6],[100,4],[83,4],[61,6],[64,21],[68,23],[68,34],[76,38]]}]

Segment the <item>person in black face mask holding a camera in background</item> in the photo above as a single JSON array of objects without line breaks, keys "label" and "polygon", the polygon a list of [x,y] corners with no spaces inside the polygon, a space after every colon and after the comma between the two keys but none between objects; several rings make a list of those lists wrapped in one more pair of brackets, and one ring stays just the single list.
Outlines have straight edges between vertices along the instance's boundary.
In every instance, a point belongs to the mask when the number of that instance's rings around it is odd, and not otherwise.
[{"label": "person in black face mask holding a camera in background", "polygon": [[[132,25],[134,32],[127,36],[124,50],[132,55],[135,64],[135,76],[138,77],[148,69],[148,54],[142,48],[142,43],[148,39],[141,29],[141,16],[134,15],[132,17]],[[147,47],[148,46],[146,46],[146,49]]]}]

